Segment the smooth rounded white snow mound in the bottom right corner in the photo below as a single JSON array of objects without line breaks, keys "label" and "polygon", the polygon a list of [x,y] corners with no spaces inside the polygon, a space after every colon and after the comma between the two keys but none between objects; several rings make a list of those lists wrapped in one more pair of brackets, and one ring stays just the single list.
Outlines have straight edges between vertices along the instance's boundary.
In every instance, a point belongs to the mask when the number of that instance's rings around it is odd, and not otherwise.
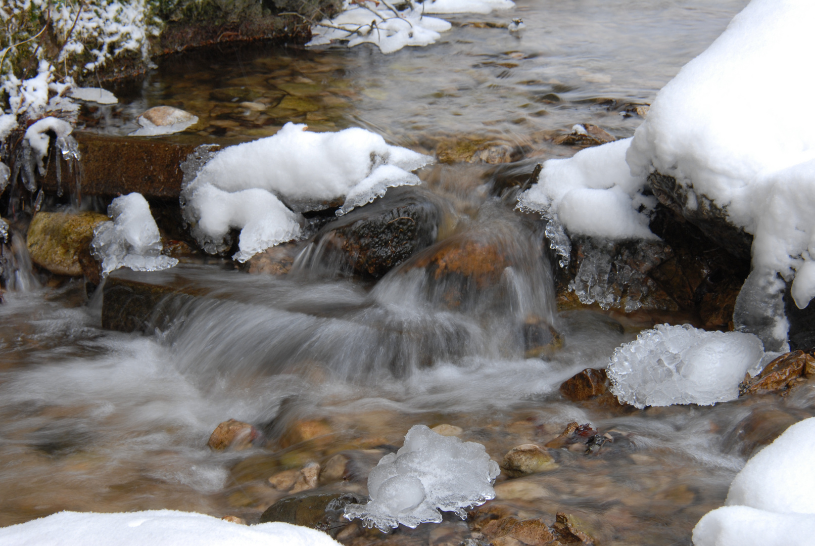
[{"label": "smooth rounded white snow mound in the bottom right corner", "polygon": [[696,546],[805,546],[815,536],[815,417],[786,429],[736,474],[725,506],[694,528]]}]

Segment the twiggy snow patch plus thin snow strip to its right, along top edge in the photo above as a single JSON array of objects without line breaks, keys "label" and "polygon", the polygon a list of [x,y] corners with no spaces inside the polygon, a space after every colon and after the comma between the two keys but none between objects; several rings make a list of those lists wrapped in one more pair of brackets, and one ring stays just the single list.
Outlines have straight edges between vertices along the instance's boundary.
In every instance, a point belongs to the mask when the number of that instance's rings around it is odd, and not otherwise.
[{"label": "twiggy snow patch plus thin snow strip to its right, along top edge", "polygon": [[446,20],[427,13],[482,13],[514,7],[511,0],[425,0],[405,2],[401,11],[388,2],[346,0],[344,11],[332,20],[323,20],[311,29],[307,46],[347,42],[349,47],[370,42],[382,53],[393,53],[405,46],[428,46],[451,29]]}]

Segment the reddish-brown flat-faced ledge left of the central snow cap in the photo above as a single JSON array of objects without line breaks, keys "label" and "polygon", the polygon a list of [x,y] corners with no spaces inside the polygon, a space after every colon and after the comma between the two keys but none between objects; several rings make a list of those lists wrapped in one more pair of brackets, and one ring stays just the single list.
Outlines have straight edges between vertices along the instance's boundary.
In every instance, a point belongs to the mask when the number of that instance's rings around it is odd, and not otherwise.
[{"label": "reddish-brown flat-faced ledge left of the central snow cap", "polygon": [[[117,196],[139,192],[143,196],[171,198],[178,203],[183,171],[180,165],[196,147],[154,139],[114,137],[74,131],[82,156],[81,196]],[[210,148],[218,150],[218,146]],[[116,161],[111,161],[115,157]],[[61,184],[55,164],[60,162]],[[61,158],[51,161],[43,180],[46,192],[76,191],[76,173]]]}]

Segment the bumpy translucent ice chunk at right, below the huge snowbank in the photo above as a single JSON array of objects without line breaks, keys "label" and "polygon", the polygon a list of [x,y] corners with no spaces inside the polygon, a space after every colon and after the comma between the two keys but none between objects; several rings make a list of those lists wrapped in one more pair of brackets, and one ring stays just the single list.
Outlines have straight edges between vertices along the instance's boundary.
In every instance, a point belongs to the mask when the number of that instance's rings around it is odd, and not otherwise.
[{"label": "bumpy translucent ice chunk at right, below the huge snowbank", "polygon": [[746,373],[760,372],[764,350],[742,332],[658,324],[615,349],[611,392],[632,406],[710,405],[738,398]]}]

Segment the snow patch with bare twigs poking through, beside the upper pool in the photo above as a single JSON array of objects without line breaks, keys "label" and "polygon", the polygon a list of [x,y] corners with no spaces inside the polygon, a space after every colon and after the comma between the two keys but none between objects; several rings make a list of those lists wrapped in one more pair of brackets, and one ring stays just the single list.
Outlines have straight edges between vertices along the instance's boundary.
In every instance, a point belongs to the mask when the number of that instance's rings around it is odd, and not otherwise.
[{"label": "snow patch with bare twigs poking through, beside the upper pool", "polygon": [[347,42],[349,47],[372,43],[382,53],[393,53],[405,46],[428,46],[450,30],[451,24],[436,17],[422,15],[421,7],[403,11],[379,7],[379,2],[367,7],[346,8],[333,20],[323,20],[311,29],[311,42],[306,46],[322,46],[332,42]]}]

